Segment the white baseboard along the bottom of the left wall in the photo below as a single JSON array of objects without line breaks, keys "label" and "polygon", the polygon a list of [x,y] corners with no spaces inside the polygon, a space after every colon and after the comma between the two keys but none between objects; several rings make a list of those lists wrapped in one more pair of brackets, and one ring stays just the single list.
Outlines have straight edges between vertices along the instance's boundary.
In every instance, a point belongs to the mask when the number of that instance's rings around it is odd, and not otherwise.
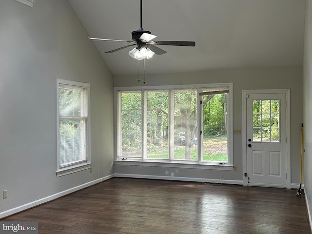
[{"label": "white baseboard along the bottom of the left wall", "polygon": [[74,192],[76,192],[78,190],[85,189],[87,187],[90,187],[92,185],[98,184],[98,183],[100,183],[102,181],[105,181],[105,180],[113,178],[113,177],[114,177],[114,174],[113,175],[109,175],[109,176],[105,176],[105,177],[102,177],[102,178],[90,181],[88,183],[78,185],[78,186],[76,186],[74,188],[67,189],[67,190],[59,192],[57,194],[53,194],[53,195],[50,195],[50,196],[47,196],[47,197],[43,197],[43,198],[38,199],[36,201],[32,201],[32,202],[29,202],[27,204],[24,204],[24,205],[12,208],[10,210],[1,212],[0,213],[0,219],[4,218],[4,217],[7,217],[9,215],[13,215],[13,214],[19,213],[19,212],[24,211],[24,210],[28,210],[28,209],[30,209],[32,207],[38,206],[38,205],[46,203],[48,201],[52,201],[52,200],[57,199],[59,197],[62,197],[62,196],[74,193]]}]

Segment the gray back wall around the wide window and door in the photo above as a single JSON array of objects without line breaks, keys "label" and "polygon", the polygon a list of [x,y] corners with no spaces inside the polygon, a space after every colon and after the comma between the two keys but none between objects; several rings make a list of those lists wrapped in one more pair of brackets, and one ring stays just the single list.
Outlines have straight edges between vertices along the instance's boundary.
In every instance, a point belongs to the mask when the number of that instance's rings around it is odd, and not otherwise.
[{"label": "gray back wall around the wide window and door", "polygon": [[[141,78],[142,79],[142,78]],[[242,90],[252,89],[291,89],[291,183],[299,183],[300,133],[303,119],[302,67],[276,67],[241,70],[215,70],[183,74],[149,75],[146,85],[205,84],[233,82],[233,128],[242,129]],[[137,76],[115,76],[114,86],[143,85]],[[242,180],[242,135],[234,135],[234,165],[237,172],[223,171],[224,180]],[[146,168],[141,166],[115,165],[116,174],[165,176],[168,171],[175,176],[188,178],[221,179],[220,171]]]}]

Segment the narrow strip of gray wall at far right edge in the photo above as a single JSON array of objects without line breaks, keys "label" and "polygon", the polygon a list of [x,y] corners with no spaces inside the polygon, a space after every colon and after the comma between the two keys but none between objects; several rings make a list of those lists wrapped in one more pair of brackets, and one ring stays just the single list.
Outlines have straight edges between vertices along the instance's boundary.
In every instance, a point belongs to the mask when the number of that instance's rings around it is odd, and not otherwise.
[{"label": "narrow strip of gray wall at far right edge", "polygon": [[304,188],[307,199],[308,211],[311,221],[311,195],[312,195],[312,0],[306,3],[305,39],[304,39],[304,62],[303,62],[303,127],[304,141],[303,164],[304,164]]}]

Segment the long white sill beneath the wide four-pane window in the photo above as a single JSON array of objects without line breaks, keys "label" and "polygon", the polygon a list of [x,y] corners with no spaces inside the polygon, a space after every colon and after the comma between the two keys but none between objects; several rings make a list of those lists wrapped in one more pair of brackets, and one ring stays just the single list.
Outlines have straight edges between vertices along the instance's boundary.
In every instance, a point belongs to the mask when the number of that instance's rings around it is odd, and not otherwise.
[{"label": "long white sill beneath the wide four-pane window", "polygon": [[150,167],[176,167],[176,168],[190,168],[190,169],[210,169],[210,170],[222,170],[233,171],[233,165],[227,164],[208,164],[208,163],[190,163],[190,162],[164,162],[164,161],[134,161],[127,160],[115,160],[115,165],[129,165],[129,166],[150,166]]}]

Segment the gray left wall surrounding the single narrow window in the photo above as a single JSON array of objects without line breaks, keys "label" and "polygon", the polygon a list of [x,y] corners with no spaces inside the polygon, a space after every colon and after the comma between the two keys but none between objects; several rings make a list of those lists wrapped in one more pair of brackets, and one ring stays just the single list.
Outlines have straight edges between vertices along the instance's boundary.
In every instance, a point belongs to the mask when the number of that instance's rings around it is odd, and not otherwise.
[{"label": "gray left wall surrounding the single narrow window", "polygon": [[[113,75],[87,37],[67,0],[0,0],[0,213],[114,174]],[[90,83],[92,173],[56,177],[57,78]]]}]

